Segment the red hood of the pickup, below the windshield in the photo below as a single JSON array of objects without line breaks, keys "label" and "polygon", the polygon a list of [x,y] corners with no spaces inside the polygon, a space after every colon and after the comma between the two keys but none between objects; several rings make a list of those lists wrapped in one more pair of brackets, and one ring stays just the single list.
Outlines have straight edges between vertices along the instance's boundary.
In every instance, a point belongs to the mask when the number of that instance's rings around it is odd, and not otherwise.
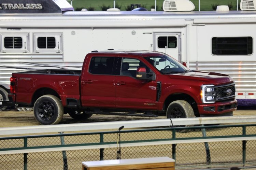
[{"label": "red hood of the pickup, below the windshield", "polygon": [[233,83],[234,80],[226,74],[204,71],[190,71],[185,73],[169,74],[171,79],[186,79],[192,81],[202,81],[205,84],[221,85]]}]

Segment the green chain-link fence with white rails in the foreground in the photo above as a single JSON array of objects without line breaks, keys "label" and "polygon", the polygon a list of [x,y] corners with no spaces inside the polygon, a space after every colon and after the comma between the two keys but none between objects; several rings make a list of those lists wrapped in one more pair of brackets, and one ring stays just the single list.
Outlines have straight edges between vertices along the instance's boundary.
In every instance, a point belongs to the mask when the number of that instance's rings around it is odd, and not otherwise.
[{"label": "green chain-link fence with white rails in the foreground", "polygon": [[[2,160],[0,167],[40,169],[43,166],[45,169],[81,169],[83,161],[116,159],[119,133],[117,130],[123,125],[126,129],[136,129],[120,131],[122,159],[169,156],[175,159],[177,169],[254,167],[256,166],[256,124],[251,124],[253,122],[256,122],[256,116],[0,128],[0,134],[5,135],[0,137],[0,160]],[[207,125],[220,123],[225,125]],[[191,124],[200,126],[173,127]],[[116,131],[101,132],[107,129],[116,129]],[[88,130],[100,130],[100,132],[63,133]],[[6,137],[19,133],[46,132],[61,133]],[[16,163],[15,166],[13,162]]]}]

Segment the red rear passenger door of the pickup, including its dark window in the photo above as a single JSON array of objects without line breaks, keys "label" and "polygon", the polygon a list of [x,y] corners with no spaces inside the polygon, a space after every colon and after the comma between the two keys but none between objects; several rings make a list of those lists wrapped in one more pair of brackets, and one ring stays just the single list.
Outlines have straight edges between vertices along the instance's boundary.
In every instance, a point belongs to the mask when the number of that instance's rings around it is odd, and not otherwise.
[{"label": "red rear passenger door of the pickup, including its dark window", "polygon": [[83,107],[115,107],[114,62],[115,56],[96,54],[86,63],[88,70],[81,77]]}]

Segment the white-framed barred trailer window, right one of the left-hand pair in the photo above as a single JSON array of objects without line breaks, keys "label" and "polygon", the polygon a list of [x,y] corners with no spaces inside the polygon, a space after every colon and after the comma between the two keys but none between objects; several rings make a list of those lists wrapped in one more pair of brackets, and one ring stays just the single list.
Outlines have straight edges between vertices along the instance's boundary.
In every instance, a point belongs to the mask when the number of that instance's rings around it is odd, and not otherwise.
[{"label": "white-framed barred trailer window, right one of the left-hand pair", "polygon": [[34,52],[62,52],[61,33],[33,33]]}]

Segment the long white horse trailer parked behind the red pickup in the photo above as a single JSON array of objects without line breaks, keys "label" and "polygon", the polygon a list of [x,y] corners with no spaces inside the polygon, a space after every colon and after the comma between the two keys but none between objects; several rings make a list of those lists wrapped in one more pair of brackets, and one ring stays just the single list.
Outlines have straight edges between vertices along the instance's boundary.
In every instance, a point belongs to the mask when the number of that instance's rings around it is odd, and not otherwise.
[{"label": "long white horse trailer parked behind the red pickup", "polygon": [[243,99],[239,104],[256,101],[256,11],[250,11],[256,8],[247,0],[240,8],[249,11],[201,12],[180,4],[164,6],[175,12],[74,12],[66,0],[9,1],[0,3],[0,100],[7,98],[12,72],[80,69],[92,50],[132,49],[165,52],[192,70],[228,74],[236,98]]}]

